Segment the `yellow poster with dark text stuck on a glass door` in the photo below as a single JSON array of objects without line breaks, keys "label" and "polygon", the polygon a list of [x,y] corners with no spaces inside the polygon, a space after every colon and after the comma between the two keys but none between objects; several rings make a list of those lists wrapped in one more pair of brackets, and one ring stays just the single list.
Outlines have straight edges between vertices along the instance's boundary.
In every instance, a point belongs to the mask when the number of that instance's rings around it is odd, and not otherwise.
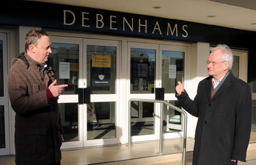
[{"label": "yellow poster with dark text stuck on a glass door", "polygon": [[111,68],[111,56],[92,56],[92,67]]}]

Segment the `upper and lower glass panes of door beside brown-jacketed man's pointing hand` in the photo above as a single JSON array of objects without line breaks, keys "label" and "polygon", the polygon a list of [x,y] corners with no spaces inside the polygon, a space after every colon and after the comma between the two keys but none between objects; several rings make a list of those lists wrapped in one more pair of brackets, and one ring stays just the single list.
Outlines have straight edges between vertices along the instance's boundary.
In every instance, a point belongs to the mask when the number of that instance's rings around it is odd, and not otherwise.
[{"label": "upper and lower glass panes of door beside brown-jacketed man's pointing hand", "polygon": [[[47,63],[55,72],[57,84],[68,84],[61,95],[77,95],[79,80],[79,45],[52,43],[52,53]],[[65,142],[79,141],[78,104],[60,103],[63,138]]]}]

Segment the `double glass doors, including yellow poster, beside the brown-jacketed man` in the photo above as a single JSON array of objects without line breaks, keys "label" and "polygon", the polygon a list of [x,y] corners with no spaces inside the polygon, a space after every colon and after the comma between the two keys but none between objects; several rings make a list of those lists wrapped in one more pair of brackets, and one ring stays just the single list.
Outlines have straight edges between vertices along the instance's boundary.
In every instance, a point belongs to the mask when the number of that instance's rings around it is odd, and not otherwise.
[{"label": "double glass doors, including yellow poster, beside the brown-jacketed man", "polygon": [[51,36],[51,42],[49,65],[57,83],[68,84],[59,98],[61,148],[119,143],[118,41]]}]

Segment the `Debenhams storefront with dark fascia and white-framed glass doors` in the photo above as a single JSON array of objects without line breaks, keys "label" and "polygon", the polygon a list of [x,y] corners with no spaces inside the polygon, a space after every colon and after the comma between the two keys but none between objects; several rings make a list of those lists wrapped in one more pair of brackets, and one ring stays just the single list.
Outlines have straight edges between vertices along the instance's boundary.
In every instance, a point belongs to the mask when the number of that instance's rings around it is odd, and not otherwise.
[{"label": "Debenhams storefront with dark fascia and white-framed glass doors", "polygon": [[[31,28],[51,35],[48,63],[58,84],[68,84],[59,99],[63,149],[127,143],[130,98],[154,100],[155,89],[164,88],[164,100],[179,107],[174,96],[177,81],[195,97],[198,82],[207,77],[209,49],[218,43],[232,47],[236,59],[232,72],[250,83],[253,92],[249,68],[255,51],[249,40],[255,33],[251,31],[61,4],[22,1],[19,5],[49,11],[13,11],[7,5],[0,12],[0,155],[15,154],[15,113],[8,102],[6,77],[11,59],[24,51],[24,37]],[[180,138],[182,115],[163,109],[164,139]],[[160,115],[160,104],[132,102],[132,142],[159,139]],[[196,118],[189,116],[191,138],[195,125]]]}]

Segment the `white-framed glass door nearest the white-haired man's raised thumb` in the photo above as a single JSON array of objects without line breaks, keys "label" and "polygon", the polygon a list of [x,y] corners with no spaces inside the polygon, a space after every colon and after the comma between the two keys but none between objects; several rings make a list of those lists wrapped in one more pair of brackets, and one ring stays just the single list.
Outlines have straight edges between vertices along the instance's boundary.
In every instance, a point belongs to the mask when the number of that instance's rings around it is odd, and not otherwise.
[{"label": "white-framed glass door nearest the white-haired man's raised thumb", "polygon": [[[187,47],[173,45],[159,45],[159,58],[161,61],[161,88],[164,88],[164,100],[180,107],[179,101],[175,98],[175,87],[180,81],[184,84],[184,66]],[[163,107],[164,138],[179,138],[183,132],[183,116],[181,113],[167,107]]]}]

